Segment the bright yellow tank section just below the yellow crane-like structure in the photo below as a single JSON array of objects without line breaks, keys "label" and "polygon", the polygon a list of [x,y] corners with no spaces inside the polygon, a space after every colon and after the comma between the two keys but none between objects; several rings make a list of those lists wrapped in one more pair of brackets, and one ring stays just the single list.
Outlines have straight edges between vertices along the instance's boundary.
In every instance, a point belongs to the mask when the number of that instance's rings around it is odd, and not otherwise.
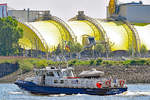
[{"label": "bright yellow tank section just below the yellow crane-like structure", "polygon": [[106,31],[106,35],[109,39],[109,44],[112,51],[128,50],[129,49],[129,36],[127,30],[122,22],[111,21],[105,22],[97,20],[99,24]]}]

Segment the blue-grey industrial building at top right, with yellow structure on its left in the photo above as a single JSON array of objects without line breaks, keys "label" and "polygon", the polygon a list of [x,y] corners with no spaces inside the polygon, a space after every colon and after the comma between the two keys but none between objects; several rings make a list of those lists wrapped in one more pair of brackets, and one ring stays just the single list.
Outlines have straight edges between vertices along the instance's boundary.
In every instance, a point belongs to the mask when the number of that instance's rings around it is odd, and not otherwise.
[{"label": "blue-grey industrial building at top right, with yellow structure on its left", "polygon": [[144,5],[142,1],[117,4],[117,0],[110,0],[107,7],[107,18],[120,17],[132,23],[150,23],[150,5]]}]

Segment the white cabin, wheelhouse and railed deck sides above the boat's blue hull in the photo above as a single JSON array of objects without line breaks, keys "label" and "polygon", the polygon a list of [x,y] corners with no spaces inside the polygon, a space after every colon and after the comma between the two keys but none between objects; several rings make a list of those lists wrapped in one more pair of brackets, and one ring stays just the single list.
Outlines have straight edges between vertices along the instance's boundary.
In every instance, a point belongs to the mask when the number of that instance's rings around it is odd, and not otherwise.
[{"label": "white cabin, wheelhouse and railed deck sides above the boat's blue hull", "polygon": [[36,76],[27,78],[25,81],[32,81],[40,86],[90,89],[126,87],[125,81],[119,79],[95,78],[93,75],[88,76],[88,78],[75,77],[72,68],[57,69],[55,67],[46,67],[44,69],[35,69],[34,71]]}]

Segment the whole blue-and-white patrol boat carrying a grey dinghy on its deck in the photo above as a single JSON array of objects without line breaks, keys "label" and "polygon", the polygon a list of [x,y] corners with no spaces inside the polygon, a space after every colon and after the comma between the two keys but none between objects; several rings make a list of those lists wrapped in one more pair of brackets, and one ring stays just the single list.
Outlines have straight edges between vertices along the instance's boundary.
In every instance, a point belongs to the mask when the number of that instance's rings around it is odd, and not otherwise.
[{"label": "whole blue-and-white patrol boat carrying a grey dinghy on its deck", "polygon": [[101,71],[84,71],[75,77],[73,68],[35,69],[35,77],[17,80],[18,87],[34,94],[115,95],[127,91],[124,80],[97,77]]}]

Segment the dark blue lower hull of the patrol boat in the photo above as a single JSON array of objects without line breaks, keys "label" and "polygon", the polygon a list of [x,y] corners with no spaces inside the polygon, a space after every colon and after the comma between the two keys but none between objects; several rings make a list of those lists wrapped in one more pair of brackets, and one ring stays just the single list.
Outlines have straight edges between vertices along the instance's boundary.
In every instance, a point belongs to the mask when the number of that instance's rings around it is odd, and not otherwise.
[{"label": "dark blue lower hull of the patrol boat", "polygon": [[15,84],[23,90],[33,94],[89,94],[89,95],[115,95],[127,91],[127,88],[66,88],[39,86],[29,81],[18,80]]}]

